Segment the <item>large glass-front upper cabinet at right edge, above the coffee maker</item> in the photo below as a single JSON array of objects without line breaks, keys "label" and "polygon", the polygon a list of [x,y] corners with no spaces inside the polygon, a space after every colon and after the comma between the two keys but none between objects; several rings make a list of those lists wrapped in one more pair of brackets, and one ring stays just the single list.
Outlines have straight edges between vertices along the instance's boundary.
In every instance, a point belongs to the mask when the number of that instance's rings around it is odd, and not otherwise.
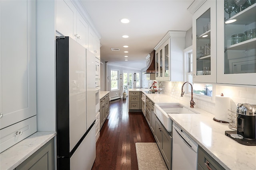
[{"label": "large glass-front upper cabinet at right edge, above the coffee maker", "polygon": [[217,9],[217,82],[256,85],[255,0],[217,1]]}]

